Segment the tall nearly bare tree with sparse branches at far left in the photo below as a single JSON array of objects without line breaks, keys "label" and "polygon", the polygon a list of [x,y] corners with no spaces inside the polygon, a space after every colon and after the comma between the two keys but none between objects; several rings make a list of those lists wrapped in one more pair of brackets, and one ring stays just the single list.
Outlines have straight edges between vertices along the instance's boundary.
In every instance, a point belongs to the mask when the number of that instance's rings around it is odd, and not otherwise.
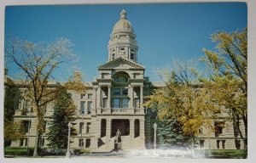
[{"label": "tall nearly bare tree with sparse branches at far left", "polygon": [[54,70],[73,58],[73,44],[66,38],[45,44],[9,39],[5,55],[14,61],[22,71],[20,84],[26,87],[26,98],[31,99],[32,110],[36,112],[37,134],[33,156],[38,155],[38,138],[44,130],[44,107],[51,102],[58,90],[49,87]]}]

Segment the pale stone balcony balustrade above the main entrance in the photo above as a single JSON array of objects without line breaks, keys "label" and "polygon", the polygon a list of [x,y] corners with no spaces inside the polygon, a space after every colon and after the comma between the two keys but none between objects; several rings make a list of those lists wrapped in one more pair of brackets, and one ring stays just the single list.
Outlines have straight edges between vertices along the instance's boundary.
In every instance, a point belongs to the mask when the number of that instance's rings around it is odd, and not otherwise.
[{"label": "pale stone balcony balustrade above the main entrance", "polygon": [[144,108],[98,108],[96,115],[145,115]]}]

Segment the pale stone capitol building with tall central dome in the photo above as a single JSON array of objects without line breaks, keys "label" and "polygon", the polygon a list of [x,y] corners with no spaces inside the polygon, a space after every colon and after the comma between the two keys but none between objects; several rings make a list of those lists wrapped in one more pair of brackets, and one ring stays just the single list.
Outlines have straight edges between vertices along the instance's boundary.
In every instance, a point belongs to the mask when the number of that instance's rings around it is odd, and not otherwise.
[{"label": "pale stone capitol building with tall central dome", "polygon": [[[106,42],[107,44],[107,42]],[[110,152],[114,149],[116,132],[121,132],[120,149],[151,149],[154,142],[152,110],[143,106],[148,95],[154,89],[165,87],[164,82],[150,82],[145,74],[145,67],[137,62],[137,37],[127,20],[125,9],[120,13],[119,20],[113,25],[113,31],[108,42],[108,60],[97,67],[96,80],[88,82],[85,93],[72,93],[74,104],[77,106],[77,119],[74,121],[78,135],[71,138],[71,149],[90,149],[91,152]],[[75,76],[82,76],[79,71]],[[15,81],[5,76],[5,87],[24,87],[15,85]],[[55,84],[52,82],[51,84]],[[21,100],[15,110],[15,121],[29,125],[24,138],[13,141],[11,147],[33,148],[36,138],[36,113],[29,110],[26,99]],[[40,138],[40,147],[47,148],[47,132],[53,115],[53,106],[44,110],[45,132]],[[224,116],[224,112],[219,117]],[[222,123],[219,121],[214,124]],[[218,126],[218,134],[212,132],[210,138],[201,130],[197,146],[199,149],[243,149],[241,138],[233,123],[225,121],[224,126]],[[210,144],[209,144],[210,143]]]}]

